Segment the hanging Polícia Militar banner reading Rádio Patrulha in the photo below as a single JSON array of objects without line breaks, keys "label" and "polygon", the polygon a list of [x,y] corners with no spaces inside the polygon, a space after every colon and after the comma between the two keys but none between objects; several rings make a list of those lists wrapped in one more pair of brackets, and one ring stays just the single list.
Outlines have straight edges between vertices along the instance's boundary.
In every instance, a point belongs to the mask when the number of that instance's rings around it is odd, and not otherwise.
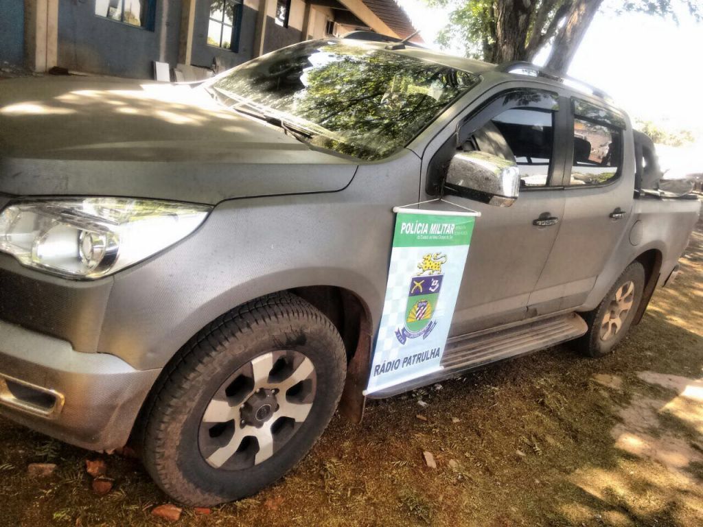
[{"label": "hanging Pol\u00edcia Militar banner reading R\u00e1dio Patrulha", "polygon": [[441,370],[477,212],[396,208],[391,263],[365,394]]}]

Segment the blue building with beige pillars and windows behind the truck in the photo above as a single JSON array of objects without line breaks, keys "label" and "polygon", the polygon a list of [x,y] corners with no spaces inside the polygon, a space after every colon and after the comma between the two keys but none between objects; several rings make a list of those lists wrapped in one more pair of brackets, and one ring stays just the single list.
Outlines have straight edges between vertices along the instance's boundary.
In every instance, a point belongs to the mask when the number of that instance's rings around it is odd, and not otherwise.
[{"label": "blue building with beige pillars and windows behind the truck", "polygon": [[0,63],[150,79],[353,30],[415,31],[395,0],[0,0]]}]

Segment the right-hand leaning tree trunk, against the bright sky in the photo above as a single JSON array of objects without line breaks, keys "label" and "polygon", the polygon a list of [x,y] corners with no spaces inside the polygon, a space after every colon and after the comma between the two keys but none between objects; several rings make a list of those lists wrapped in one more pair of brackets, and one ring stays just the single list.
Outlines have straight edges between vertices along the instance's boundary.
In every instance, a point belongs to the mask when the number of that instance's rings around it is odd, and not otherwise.
[{"label": "right-hand leaning tree trunk, against the bright sky", "polygon": [[546,67],[557,73],[565,74],[576,55],[576,50],[591,25],[595,13],[603,0],[576,0],[565,25],[560,27],[552,44]]}]

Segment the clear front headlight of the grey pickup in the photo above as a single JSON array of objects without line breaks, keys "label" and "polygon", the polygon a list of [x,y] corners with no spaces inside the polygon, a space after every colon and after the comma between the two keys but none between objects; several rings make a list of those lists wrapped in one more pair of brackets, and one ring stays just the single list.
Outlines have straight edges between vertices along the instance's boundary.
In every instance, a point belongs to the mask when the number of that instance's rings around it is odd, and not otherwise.
[{"label": "clear front headlight of the grey pickup", "polygon": [[20,202],[0,214],[0,251],[50,273],[100,278],[185,238],[209,211],[122,197]]}]

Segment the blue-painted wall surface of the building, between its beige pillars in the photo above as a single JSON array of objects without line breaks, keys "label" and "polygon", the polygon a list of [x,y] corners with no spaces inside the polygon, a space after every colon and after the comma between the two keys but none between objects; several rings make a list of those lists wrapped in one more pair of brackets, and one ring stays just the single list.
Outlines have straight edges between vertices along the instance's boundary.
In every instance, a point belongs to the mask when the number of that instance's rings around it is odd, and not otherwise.
[{"label": "blue-painted wall surface of the building, between its beige pillars", "polygon": [[[0,0],[0,65],[24,62],[24,1]],[[209,0],[198,0],[191,63],[212,66],[219,57],[226,67],[252,58],[257,11],[244,7],[237,53],[207,45]],[[175,67],[181,30],[181,1],[156,0],[155,27],[146,30],[95,15],[95,0],[59,0],[58,65],[69,70],[153,79],[153,61]],[[264,52],[288,46],[301,32],[283,28],[266,17]]]}]

